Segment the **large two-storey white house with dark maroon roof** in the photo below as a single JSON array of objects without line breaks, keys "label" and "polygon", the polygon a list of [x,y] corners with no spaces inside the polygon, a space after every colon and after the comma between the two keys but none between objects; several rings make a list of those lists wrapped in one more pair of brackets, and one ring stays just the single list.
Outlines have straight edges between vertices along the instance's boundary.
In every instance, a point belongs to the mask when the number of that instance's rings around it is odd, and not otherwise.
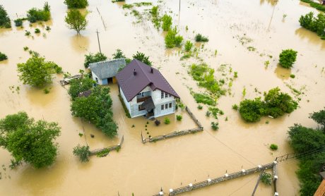
[{"label": "large two-storey white house with dark maroon roof", "polygon": [[131,118],[175,113],[179,96],[157,69],[134,59],[116,78]]}]

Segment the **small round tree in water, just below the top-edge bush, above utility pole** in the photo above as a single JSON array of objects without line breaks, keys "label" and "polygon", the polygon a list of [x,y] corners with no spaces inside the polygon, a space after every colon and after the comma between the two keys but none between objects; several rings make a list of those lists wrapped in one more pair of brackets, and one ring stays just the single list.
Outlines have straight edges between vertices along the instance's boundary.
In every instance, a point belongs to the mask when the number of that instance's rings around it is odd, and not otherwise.
[{"label": "small round tree in water, just below the top-edge bush, above utility pole", "polygon": [[64,20],[68,24],[69,28],[76,30],[78,34],[81,30],[85,30],[88,23],[88,21],[85,20],[85,16],[83,16],[80,11],[74,9],[68,11]]}]

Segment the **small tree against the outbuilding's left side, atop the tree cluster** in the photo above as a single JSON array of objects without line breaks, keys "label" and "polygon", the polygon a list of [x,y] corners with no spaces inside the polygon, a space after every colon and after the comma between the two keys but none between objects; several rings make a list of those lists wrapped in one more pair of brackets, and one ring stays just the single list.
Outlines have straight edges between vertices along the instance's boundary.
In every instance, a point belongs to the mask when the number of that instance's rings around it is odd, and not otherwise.
[{"label": "small tree against the outbuilding's left side, atop the tree cluster", "polygon": [[91,78],[71,80],[69,94],[71,95],[72,99],[76,99],[79,92],[90,90],[93,87],[94,83],[95,82]]}]

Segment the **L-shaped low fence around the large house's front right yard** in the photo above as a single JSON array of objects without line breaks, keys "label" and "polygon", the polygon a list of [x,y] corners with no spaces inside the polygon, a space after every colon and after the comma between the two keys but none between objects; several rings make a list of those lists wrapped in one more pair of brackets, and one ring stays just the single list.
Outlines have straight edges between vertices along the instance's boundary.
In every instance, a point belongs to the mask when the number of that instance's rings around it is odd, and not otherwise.
[{"label": "L-shaped low fence around the large house's front right yard", "polygon": [[167,135],[158,135],[155,137],[147,137],[147,138],[143,138],[143,135],[141,133],[141,140],[143,142],[143,144],[145,144],[146,142],[157,142],[159,140],[165,140],[165,139],[169,139],[172,137],[178,137],[181,135],[188,135],[190,133],[196,133],[196,132],[200,132],[203,131],[203,127],[201,125],[201,123],[198,121],[198,119],[194,116],[194,114],[189,110],[189,108],[186,106],[185,110],[187,111],[187,114],[189,114],[189,116],[191,116],[192,120],[196,123],[196,125],[199,128],[191,128],[189,130],[179,130],[179,131],[175,131],[172,133],[168,133]]}]

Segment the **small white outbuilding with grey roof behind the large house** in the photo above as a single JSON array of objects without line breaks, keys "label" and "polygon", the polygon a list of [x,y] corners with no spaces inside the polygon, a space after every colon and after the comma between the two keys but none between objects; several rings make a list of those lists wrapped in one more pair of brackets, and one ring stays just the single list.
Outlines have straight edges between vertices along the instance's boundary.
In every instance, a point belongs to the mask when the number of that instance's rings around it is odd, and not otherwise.
[{"label": "small white outbuilding with grey roof behind the large house", "polygon": [[90,63],[89,68],[93,75],[93,80],[98,85],[107,85],[109,82],[116,83],[115,75],[126,65],[125,59],[114,59],[111,61],[101,61]]}]

